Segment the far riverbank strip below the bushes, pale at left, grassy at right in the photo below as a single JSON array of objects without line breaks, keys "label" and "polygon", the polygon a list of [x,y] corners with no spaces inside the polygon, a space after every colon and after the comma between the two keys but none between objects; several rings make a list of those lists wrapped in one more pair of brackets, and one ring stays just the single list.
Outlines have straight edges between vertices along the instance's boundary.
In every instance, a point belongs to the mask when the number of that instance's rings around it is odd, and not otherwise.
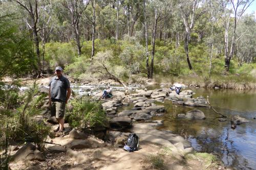
[{"label": "far riverbank strip below the bushes, pale at left, grassy at right", "polygon": [[[50,78],[54,75],[46,75],[44,78],[33,79],[33,78],[21,78],[20,80],[22,85],[30,85],[36,80],[36,82],[40,85],[48,85]],[[186,76],[163,76],[163,75],[155,75],[153,79],[147,79],[143,75],[131,75],[129,80],[124,82],[125,84],[139,84],[140,86],[151,86],[151,85],[167,85],[171,86],[175,82],[179,82],[184,84],[184,87],[204,87],[208,89],[234,89],[234,90],[253,90],[256,89],[256,69],[253,69],[250,74],[247,76],[239,75],[239,74],[228,74],[224,72],[220,76],[212,76],[209,78],[208,76],[202,77],[197,74],[188,74]],[[113,86],[120,86],[119,83],[113,80],[97,80],[97,79],[73,79],[68,76],[69,80],[73,84],[77,85],[97,85],[97,84],[111,84]],[[16,79],[12,79],[10,77],[6,77],[4,82],[12,82]]]}]

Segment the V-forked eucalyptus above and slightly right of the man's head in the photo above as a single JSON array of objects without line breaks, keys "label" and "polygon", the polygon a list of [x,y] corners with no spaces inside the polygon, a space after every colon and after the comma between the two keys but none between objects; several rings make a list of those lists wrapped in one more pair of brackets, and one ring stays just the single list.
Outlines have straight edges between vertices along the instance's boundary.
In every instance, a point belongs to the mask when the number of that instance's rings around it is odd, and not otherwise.
[{"label": "V-forked eucalyptus above and slightly right of the man's head", "polygon": [[83,15],[83,12],[86,10],[90,3],[90,0],[66,0],[62,2],[62,5],[67,8],[70,12],[70,20],[71,20],[71,25],[73,27],[73,33],[75,34],[75,44],[77,46],[77,52],[78,55],[80,56],[82,54],[81,48],[82,48],[82,43],[80,42],[80,19],[81,16]]}]

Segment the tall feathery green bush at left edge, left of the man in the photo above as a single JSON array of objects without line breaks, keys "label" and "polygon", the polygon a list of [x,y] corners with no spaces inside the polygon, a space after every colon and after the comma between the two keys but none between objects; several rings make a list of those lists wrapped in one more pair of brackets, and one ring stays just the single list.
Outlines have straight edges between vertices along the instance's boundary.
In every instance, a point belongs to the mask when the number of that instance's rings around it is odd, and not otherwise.
[{"label": "tall feathery green bush at left edge, left of the man", "polygon": [[44,150],[43,141],[49,135],[50,128],[44,123],[36,122],[33,118],[34,115],[39,114],[38,106],[41,105],[42,96],[44,95],[38,95],[38,87],[34,83],[24,95],[17,96],[18,107],[2,110],[0,114],[0,124],[3,125],[1,126],[2,136],[21,144],[32,142],[38,150]]}]

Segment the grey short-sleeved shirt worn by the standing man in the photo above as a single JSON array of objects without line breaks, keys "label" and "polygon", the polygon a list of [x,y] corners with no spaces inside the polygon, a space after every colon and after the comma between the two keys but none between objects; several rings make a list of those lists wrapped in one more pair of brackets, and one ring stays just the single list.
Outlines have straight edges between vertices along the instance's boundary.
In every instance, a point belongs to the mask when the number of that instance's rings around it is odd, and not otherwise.
[{"label": "grey short-sleeved shirt worn by the standing man", "polygon": [[65,102],[67,97],[67,89],[70,88],[69,80],[61,76],[58,78],[57,76],[53,77],[49,83],[51,88],[51,99],[52,100],[60,100]]}]

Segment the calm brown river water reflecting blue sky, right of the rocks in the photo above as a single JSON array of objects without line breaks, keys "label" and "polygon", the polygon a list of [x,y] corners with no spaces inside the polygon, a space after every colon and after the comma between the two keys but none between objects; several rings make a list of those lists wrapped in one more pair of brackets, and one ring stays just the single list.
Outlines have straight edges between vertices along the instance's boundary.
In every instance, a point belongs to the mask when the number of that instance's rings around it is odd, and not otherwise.
[{"label": "calm brown river water reflecting blue sky, right of the rocks", "polygon": [[[204,112],[205,120],[178,119],[177,115],[195,107],[173,105],[170,101],[159,103],[165,106],[164,126],[191,142],[198,152],[215,153],[225,166],[233,169],[256,169],[256,91],[191,89],[209,101],[218,112],[227,115],[227,122],[219,122],[217,114],[209,108],[197,108]],[[230,128],[230,116],[240,115],[250,123]],[[159,119],[159,117],[155,117]]]}]

